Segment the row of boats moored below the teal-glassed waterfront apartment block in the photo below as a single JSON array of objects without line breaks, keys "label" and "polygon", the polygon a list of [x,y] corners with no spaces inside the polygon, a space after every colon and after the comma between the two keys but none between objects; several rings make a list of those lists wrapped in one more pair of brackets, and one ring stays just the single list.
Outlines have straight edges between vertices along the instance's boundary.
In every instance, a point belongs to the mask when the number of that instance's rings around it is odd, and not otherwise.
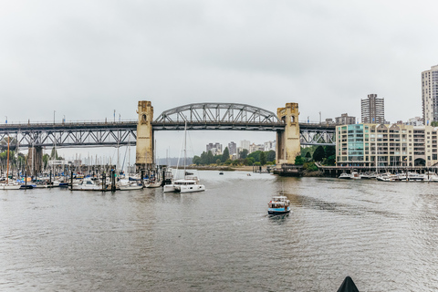
[{"label": "row of boats moored below the teal-glassed waterfront apartment block", "polygon": [[438,183],[438,174],[435,172],[343,172],[339,175],[339,179],[344,180],[378,180],[381,182],[435,182]]}]

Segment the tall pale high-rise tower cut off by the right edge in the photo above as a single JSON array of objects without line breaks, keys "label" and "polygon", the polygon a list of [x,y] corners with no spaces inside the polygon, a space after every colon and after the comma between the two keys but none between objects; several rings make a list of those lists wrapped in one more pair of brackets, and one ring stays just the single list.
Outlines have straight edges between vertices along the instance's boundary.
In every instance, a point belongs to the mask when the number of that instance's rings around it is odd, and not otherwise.
[{"label": "tall pale high-rise tower cut off by the right edge", "polygon": [[422,71],[422,120],[425,125],[438,120],[438,65]]}]

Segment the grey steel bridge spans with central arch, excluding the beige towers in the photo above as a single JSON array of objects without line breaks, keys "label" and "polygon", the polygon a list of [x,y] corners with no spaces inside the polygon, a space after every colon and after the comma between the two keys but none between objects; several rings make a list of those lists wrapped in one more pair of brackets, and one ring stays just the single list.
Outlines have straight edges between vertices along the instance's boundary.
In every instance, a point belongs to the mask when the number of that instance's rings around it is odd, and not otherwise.
[{"label": "grey steel bridge spans with central arch, excluding the beige towers", "polygon": [[[47,122],[0,126],[0,148],[9,136],[23,148],[115,147],[135,145],[138,120]],[[285,130],[285,121],[261,108],[240,103],[192,103],[165,110],[151,122],[152,130]],[[300,123],[301,145],[334,145],[333,125]]]}]

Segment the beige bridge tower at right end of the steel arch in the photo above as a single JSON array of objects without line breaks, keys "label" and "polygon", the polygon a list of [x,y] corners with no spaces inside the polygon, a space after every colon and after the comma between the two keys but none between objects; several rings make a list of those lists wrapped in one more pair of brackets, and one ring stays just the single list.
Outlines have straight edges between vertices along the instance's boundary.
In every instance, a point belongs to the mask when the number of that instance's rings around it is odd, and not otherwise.
[{"label": "beige bridge tower at right end of the steel arch", "polygon": [[286,108],[276,110],[276,115],[285,122],[285,130],[276,132],[276,164],[294,164],[301,151],[298,104],[287,103]]}]

